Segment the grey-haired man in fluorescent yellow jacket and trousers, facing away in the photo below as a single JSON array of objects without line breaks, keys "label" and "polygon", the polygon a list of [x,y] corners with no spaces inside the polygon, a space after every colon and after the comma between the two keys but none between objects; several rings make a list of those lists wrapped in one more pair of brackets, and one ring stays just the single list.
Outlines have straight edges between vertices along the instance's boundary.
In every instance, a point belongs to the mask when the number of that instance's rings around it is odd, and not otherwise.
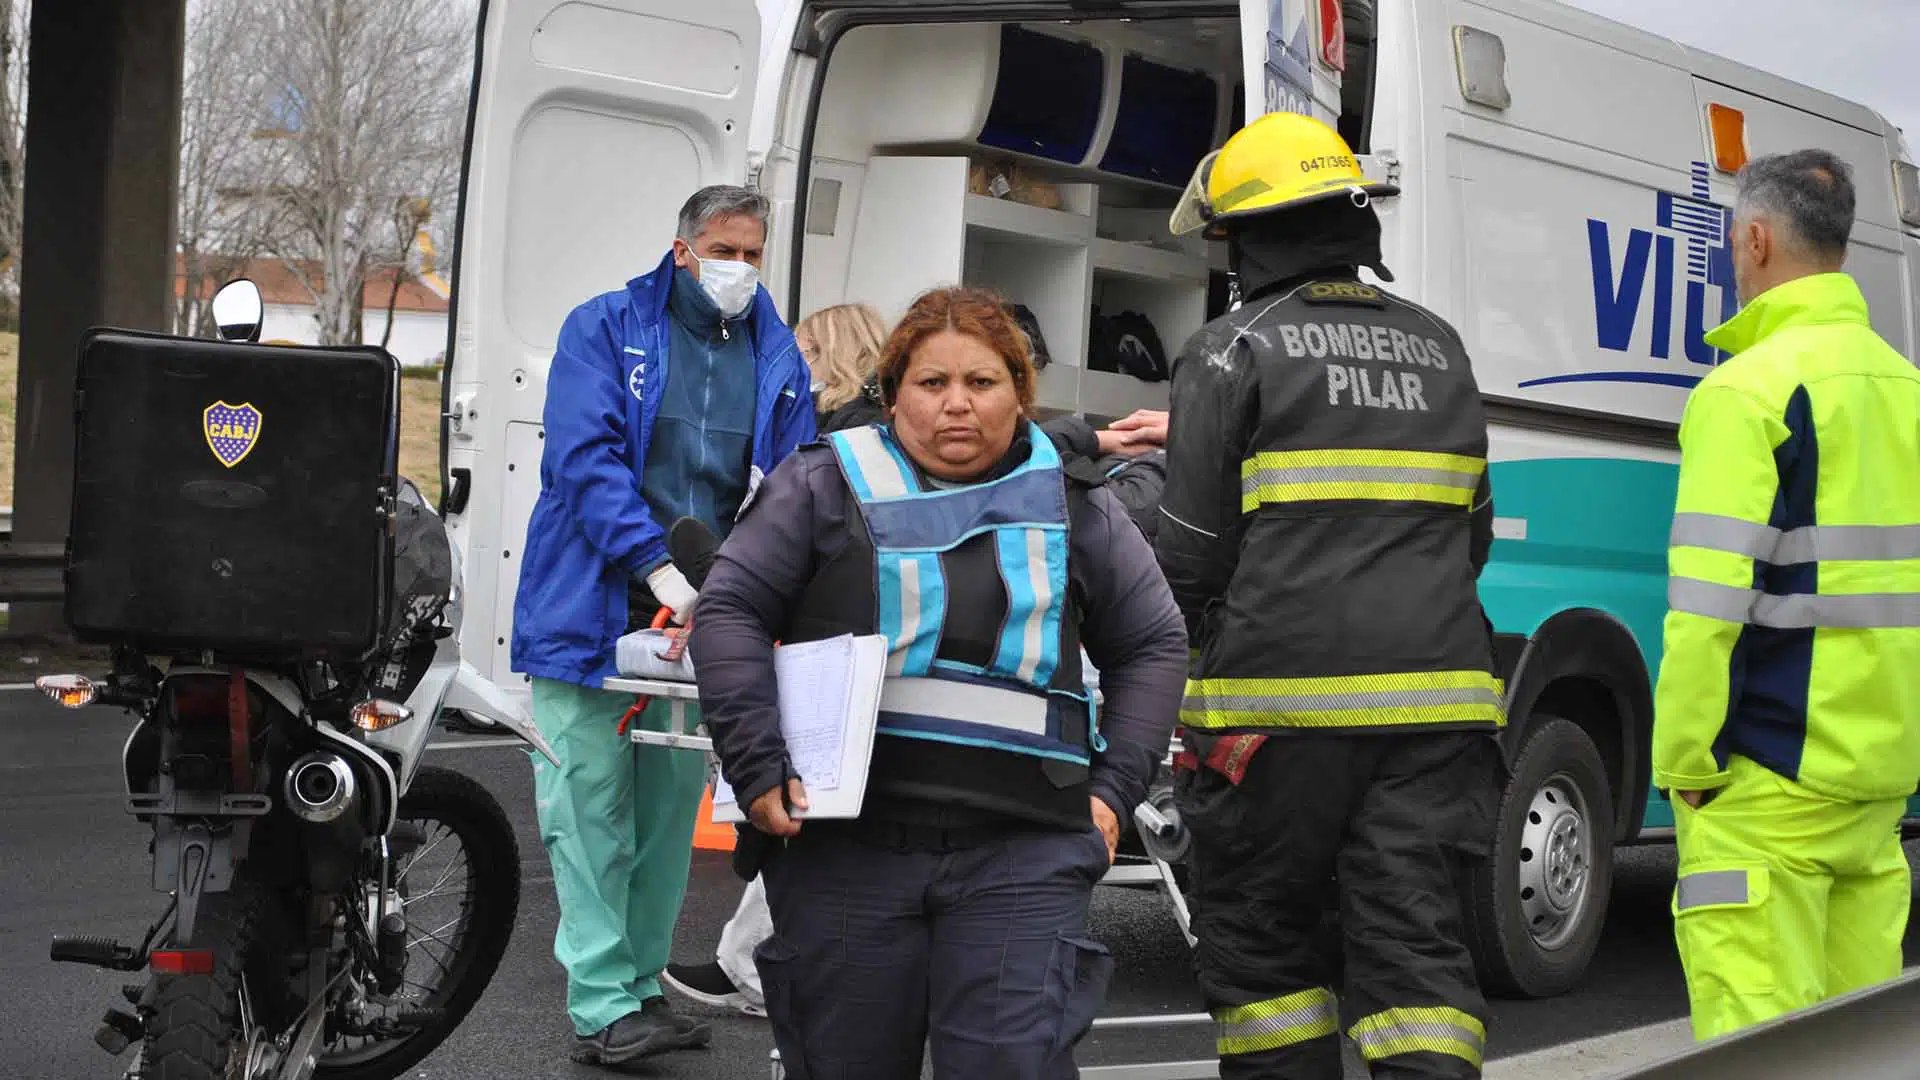
[{"label": "grey-haired man in fluorescent yellow jacket and trousers, facing away", "polygon": [[1695,1038],[1901,970],[1920,784],[1920,371],[1839,273],[1832,154],[1740,173],[1745,307],[1680,425],[1653,782]]}]

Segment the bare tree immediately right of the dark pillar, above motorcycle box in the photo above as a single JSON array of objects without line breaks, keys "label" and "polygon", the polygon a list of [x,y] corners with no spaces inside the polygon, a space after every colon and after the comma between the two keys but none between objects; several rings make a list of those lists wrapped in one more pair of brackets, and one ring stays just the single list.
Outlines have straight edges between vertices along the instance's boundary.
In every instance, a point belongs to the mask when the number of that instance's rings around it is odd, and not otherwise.
[{"label": "bare tree immediately right of the dark pillar, above motorcycle box", "polygon": [[194,0],[186,15],[186,83],[180,92],[179,259],[175,302],[180,334],[211,334],[213,290],[273,250],[286,204],[284,133],[271,115],[280,83],[273,42],[255,23],[261,0]]}]

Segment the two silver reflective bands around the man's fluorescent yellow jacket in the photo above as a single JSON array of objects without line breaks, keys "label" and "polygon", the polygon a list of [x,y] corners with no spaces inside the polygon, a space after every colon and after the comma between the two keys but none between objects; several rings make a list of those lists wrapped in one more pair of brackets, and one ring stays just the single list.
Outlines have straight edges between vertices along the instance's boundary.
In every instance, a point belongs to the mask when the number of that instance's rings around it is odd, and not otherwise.
[{"label": "two silver reflective bands around the man's fluorescent yellow jacket", "polygon": [[[1895,563],[1920,559],[1920,525],[1807,525],[1780,530],[1716,513],[1676,513],[1668,544],[1724,552],[1774,567],[1824,561]],[[1782,596],[1672,577],[1667,582],[1667,605],[1722,623],[1780,630],[1920,626],[1920,594],[1914,592]]]}]

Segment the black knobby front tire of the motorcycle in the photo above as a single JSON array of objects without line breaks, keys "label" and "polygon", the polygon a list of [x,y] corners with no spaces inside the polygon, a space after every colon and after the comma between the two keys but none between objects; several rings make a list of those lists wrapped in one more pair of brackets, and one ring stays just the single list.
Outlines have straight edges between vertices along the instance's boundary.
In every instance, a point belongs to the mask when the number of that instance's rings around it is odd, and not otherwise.
[{"label": "black knobby front tire of the motorcycle", "polygon": [[351,1061],[340,1061],[332,1047],[326,1047],[315,1078],[394,1080],[405,1074],[461,1026],[493,980],[513,938],[520,911],[520,846],[499,801],[463,773],[422,765],[399,799],[397,817],[438,821],[453,830],[465,847],[472,876],[461,947],[451,959],[445,982],[424,1001],[438,1011],[432,1020],[403,1038],[359,1047]]}]

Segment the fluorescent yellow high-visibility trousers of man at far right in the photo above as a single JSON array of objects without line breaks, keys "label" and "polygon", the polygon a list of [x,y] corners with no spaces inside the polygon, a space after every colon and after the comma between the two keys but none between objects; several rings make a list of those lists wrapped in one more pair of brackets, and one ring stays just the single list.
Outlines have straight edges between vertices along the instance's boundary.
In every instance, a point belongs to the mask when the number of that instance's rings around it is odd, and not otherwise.
[{"label": "fluorescent yellow high-visibility trousers of man at far right", "polygon": [[1912,896],[1907,799],[1837,801],[1738,755],[1728,771],[1707,805],[1674,798],[1695,1040],[1897,976]]}]

